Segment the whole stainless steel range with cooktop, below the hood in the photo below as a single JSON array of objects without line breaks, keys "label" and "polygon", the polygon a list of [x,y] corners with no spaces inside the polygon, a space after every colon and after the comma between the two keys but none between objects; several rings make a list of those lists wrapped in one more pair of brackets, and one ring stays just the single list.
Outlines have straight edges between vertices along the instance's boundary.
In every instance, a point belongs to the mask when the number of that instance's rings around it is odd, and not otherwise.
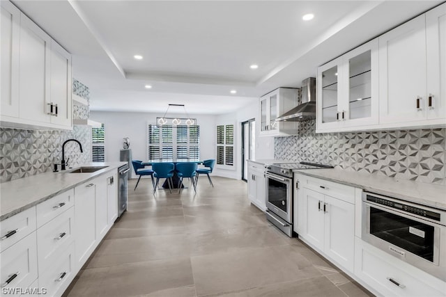
[{"label": "whole stainless steel range with cooktop, below the hood", "polygon": [[288,236],[293,236],[293,170],[332,166],[300,162],[265,166],[266,218]]}]

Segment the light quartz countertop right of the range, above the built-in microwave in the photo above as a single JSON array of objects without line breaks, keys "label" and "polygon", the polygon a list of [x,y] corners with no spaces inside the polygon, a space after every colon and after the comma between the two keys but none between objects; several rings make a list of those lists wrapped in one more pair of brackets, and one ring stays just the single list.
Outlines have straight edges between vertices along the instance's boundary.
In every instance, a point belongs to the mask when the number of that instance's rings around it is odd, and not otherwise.
[{"label": "light quartz countertop right of the range, above the built-in microwave", "polygon": [[364,191],[386,195],[446,210],[446,186],[426,184],[407,179],[396,179],[383,175],[355,172],[340,168],[293,170],[311,177],[362,188]]}]

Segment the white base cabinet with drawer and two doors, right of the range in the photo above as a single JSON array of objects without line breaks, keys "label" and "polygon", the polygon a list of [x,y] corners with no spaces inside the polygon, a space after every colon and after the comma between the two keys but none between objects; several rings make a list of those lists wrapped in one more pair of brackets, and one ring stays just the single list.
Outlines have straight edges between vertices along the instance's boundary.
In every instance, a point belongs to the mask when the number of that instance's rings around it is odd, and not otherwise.
[{"label": "white base cabinet with drawer and two doors, right of the range", "polygon": [[[355,188],[295,175],[298,234],[322,255],[353,273]],[[318,190],[314,190],[318,183]],[[339,191],[344,189],[344,191]]]}]

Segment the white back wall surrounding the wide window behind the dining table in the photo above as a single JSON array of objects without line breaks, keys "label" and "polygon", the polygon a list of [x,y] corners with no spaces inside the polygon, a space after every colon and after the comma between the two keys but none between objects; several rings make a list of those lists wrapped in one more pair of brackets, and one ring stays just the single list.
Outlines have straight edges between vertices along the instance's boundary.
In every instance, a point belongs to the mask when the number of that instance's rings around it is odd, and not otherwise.
[{"label": "white back wall surrounding the wide window behind the dining table", "polygon": [[[147,160],[147,125],[155,124],[159,116],[158,113],[91,111],[91,120],[104,123],[105,161],[119,161],[124,137],[130,138],[132,159]],[[197,118],[200,126],[200,159],[215,159],[215,115],[190,116]]]}]

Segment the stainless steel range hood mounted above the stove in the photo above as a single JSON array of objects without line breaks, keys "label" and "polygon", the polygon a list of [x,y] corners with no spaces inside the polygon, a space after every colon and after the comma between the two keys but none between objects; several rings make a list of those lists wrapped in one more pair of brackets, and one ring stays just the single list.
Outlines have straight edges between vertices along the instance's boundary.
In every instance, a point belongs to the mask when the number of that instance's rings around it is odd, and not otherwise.
[{"label": "stainless steel range hood mounted above the stove", "polygon": [[314,118],[316,118],[316,78],[309,77],[302,81],[302,104],[279,116],[276,121],[301,122]]}]

